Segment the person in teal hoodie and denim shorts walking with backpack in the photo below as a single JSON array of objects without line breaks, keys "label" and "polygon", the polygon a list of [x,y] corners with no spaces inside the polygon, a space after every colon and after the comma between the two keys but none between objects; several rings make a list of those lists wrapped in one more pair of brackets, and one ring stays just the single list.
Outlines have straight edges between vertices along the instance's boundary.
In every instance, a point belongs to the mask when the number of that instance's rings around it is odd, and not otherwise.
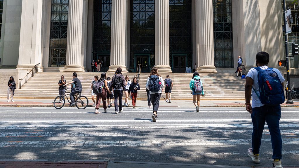
[{"label": "person in teal hoodie and denim shorts walking with backpack", "polygon": [[205,96],[204,89],[202,87],[202,80],[197,71],[193,73],[193,77],[189,83],[190,89],[192,91],[193,103],[196,106],[196,112],[199,112],[200,106],[200,95]]}]

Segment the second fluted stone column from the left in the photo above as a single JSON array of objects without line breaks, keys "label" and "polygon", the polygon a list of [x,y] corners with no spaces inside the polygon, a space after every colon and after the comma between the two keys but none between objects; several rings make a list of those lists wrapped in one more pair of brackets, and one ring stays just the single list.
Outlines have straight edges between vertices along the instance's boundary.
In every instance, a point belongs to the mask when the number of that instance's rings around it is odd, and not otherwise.
[{"label": "second fluted stone column from the left", "polygon": [[113,0],[111,9],[111,54],[108,72],[121,67],[126,70],[126,1]]}]

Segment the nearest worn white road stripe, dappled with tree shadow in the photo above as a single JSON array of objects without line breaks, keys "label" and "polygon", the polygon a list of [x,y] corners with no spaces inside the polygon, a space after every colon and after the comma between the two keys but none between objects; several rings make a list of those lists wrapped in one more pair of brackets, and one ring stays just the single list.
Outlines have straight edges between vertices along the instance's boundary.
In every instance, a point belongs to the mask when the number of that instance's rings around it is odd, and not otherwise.
[{"label": "nearest worn white road stripe, dappled with tree shadow", "polygon": [[[271,143],[271,139],[263,139],[262,143]],[[283,138],[283,144],[299,144],[298,138]],[[110,140],[110,141],[5,141],[0,147],[107,147],[107,146],[203,146],[203,145],[248,145],[251,139],[234,140]]]}]

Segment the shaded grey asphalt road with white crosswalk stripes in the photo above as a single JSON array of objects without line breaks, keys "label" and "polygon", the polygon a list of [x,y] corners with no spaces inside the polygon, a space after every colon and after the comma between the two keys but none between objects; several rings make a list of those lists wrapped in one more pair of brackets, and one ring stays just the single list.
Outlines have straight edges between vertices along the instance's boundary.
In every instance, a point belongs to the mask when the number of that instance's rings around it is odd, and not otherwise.
[{"label": "shaded grey asphalt road with white crosswalk stripes", "polygon": [[[265,126],[260,164],[247,156],[252,124],[244,108],[124,108],[94,114],[93,108],[1,107],[0,158],[118,160],[231,166],[269,166],[272,147]],[[103,112],[103,109],[100,109]],[[299,110],[282,108],[283,166],[298,165]]]}]

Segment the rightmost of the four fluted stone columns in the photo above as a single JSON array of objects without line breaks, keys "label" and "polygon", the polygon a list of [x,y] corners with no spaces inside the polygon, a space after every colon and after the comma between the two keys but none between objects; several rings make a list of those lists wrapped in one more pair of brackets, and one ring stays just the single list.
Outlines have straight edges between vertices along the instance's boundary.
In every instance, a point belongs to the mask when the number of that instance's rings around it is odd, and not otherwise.
[{"label": "rightmost of the four fluted stone columns", "polygon": [[213,0],[196,0],[196,71],[217,73],[214,66]]}]

